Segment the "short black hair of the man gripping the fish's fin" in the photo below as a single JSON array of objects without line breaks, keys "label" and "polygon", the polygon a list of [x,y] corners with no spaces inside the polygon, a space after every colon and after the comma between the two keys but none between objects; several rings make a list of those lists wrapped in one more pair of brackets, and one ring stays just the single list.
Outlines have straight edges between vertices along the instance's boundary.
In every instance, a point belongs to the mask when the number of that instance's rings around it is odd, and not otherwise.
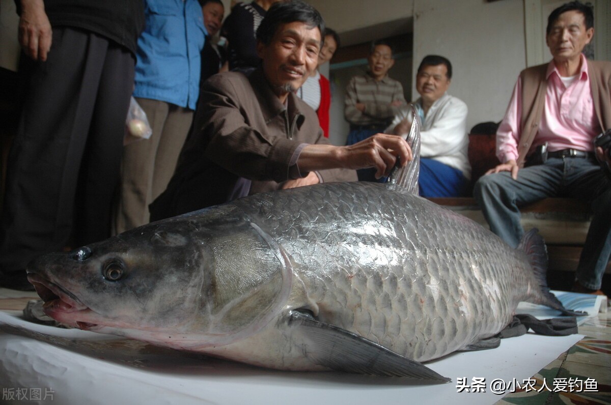
[{"label": "short black hair of the man gripping the fish's fin", "polygon": [[310,28],[318,27],[320,31],[320,46],[324,43],[324,20],[318,10],[301,0],[281,1],[274,3],[265,14],[261,25],[257,28],[257,40],[269,45],[276,35],[278,27],[298,21]]}]

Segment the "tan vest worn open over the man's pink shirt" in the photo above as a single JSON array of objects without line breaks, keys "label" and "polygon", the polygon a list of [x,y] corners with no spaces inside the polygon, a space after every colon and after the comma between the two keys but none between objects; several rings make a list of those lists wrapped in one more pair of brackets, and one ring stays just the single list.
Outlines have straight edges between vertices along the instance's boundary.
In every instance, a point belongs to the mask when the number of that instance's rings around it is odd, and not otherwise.
[{"label": "tan vest worn open over the man's pink shirt", "polygon": [[[526,155],[539,130],[547,91],[548,64],[522,70],[522,122],[518,144],[518,165],[524,166]],[[611,62],[588,60],[588,76],[596,117],[603,130],[611,128]]]}]

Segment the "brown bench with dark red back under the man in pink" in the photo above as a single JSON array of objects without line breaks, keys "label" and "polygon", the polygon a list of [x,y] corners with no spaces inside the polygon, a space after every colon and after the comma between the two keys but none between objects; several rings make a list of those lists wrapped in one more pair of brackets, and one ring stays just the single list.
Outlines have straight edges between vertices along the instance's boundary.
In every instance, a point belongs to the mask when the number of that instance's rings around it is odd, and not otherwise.
[{"label": "brown bench with dark red back under the man in pink", "polygon": [[[473,184],[488,169],[499,164],[496,158],[494,134],[469,134],[469,162],[472,166]],[[431,201],[463,214],[488,227],[480,208],[472,197],[431,198]],[[538,228],[546,241],[549,268],[553,271],[575,271],[579,255],[590,226],[590,205],[584,200],[548,198],[521,208],[522,226],[525,230]],[[611,273],[611,265],[607,266]]]}]

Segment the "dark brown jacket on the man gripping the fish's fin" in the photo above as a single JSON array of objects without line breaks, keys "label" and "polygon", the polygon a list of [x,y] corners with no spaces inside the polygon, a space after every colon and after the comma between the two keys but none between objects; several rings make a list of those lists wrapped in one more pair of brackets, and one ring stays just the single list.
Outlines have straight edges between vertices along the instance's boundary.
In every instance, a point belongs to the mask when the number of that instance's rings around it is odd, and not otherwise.
[{"label": "dark brown jacket on the man gripping the fish's fin", "polygon": [[[211,76],[174,176],[150,206],[151,219],[279,189],[300,177],[295,162],[301,145],[328,143],[313,109],[293,93],[286,106],[280,103],[260,68],[249,77]],[[357,180],[355,170],[316,173],[324,182]]]}]

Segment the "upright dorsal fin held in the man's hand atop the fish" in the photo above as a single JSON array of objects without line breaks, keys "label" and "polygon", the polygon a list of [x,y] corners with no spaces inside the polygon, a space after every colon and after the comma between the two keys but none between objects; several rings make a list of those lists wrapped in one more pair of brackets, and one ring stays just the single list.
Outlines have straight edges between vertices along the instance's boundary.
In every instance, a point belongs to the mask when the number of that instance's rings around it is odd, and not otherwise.
[{"label": "upright dorsal fin held in the man's hand atop the fish", "polygon": [[409,104],[408,111],[405,115],[406,119],[412,120],[412,126],[409,128],[409,134],[406,137],[409,147],[412,148],[412,161],[405,167],[400,167],[400,162],[390,172],[387,184],[389,188],[397,191],[411,192],[418,194],[418,177],[420,175],[420,117],[416,111],[414,104]]}]

